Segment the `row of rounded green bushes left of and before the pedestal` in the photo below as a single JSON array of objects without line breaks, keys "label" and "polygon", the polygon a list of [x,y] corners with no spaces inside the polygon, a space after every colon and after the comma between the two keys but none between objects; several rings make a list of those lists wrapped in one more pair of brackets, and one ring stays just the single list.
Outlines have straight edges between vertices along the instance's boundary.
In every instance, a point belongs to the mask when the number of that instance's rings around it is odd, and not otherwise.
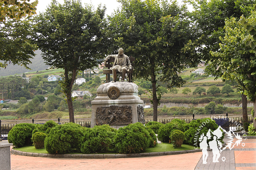
[{"label": "row of rounded green bushes left of and before the pedestal", "polygon": [[107,150],[133,154],[157,145],[154,131],[141,123],[129,124],[118,130],[109,125],[87,128],[74,123],[58,125],[54,121],[43,125],[22,123],[10,130],[8,141],[17,148],[32,143],[36,148],[44,146],[51,154],[90,154]]}]

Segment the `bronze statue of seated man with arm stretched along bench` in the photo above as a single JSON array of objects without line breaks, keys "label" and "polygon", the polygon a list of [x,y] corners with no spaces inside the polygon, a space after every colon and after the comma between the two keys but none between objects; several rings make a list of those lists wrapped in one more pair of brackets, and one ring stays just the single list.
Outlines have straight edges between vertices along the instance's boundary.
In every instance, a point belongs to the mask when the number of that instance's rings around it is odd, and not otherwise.
[{"label": "bronze statue of seated man with arm stretched along bench", "polygon": [[115,59],[113,66],[110,68],[112,70],[112,73],[113,73],[113,81],[112,82],[117,81],[117,72],[122,73],[121,82],[124,82],[125,74],[130,73],[133,70],[133,66],[130,62],[129,57],[127,55],[125,55],[123,53],[123,49],[120,48],[120,49],[118,49],[118,54],[108,55],[104,59],[105,65],[107,64],[107,61],[110,58]]}]

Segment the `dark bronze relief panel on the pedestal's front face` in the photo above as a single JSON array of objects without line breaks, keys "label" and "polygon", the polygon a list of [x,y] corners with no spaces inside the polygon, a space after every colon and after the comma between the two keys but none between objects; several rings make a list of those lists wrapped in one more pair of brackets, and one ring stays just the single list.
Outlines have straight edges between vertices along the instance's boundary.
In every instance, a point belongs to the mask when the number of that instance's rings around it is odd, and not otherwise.
[{"label": "dark bronze relief panel on the pedestal's front face", "polygon": [[96,125],[128,125],[132,121],[131,106],[98,107],[96,111]]}]

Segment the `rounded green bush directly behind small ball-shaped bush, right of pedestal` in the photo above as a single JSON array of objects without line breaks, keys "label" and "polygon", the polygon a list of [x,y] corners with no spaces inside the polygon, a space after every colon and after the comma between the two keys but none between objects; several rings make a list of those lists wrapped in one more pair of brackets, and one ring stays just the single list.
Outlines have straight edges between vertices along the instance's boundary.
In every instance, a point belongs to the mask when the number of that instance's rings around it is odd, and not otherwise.
[{"label": "rounded green bush directly behind small ball-shaped bush, right of pedestal", "polygon": [[180,119],[173,119],[170,123],[164,124],[158,130],[158,140],[162,142],[169,142],[170,134],[173,130],[180,130],[185,132],[186,122]]}]

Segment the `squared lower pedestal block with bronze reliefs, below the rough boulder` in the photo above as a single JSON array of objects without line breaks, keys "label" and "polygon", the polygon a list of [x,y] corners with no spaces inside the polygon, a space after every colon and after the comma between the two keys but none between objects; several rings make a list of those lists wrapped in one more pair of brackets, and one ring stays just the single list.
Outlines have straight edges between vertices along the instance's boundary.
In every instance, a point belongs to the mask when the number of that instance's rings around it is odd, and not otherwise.
[{"label": "squared lower pedestal block with bronze reliefs, below the rough boulder", "polygon": [[[98,94],[92,103],[91,127],[109,124],[116,129],[131,123],[145,123],[143,100],[136,93],[121,93],[118,99],[112,100],[108,94]],[[142,108],[142,111],[141,111]]]}]

